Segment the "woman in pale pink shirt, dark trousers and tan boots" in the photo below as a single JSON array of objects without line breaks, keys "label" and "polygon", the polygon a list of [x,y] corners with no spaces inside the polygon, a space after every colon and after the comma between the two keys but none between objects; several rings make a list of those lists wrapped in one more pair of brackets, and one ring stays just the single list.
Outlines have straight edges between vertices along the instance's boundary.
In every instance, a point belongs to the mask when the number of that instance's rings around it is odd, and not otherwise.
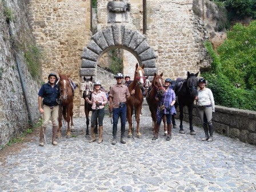
[{"label": "woman in pale pink shirt, dark trousers and tan boots", "polygon": [[94,91],[91,93],[91,101],[88,97],[85,98],[85,100],[92,105],[92,113],[91,113],[91,140],[89,141],[94,142],[96,141],[95,133],[94,133],[94,127],[95,123],[97,121],[98,117],[98,123],[99,123],[99,138],[98,143],[101,143],[103,141],[102,139],[102,133],[103,133],[103,118],[105,115],[105,105],[108,102],[106,93],[101,91],[101,82],[97,81],[94,83]]}]

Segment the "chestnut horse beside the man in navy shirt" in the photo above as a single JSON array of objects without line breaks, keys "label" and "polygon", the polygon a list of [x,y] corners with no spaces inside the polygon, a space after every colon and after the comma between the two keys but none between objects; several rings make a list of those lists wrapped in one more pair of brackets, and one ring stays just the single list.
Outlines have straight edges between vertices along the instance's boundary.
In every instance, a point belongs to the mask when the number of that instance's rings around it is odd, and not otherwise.
[{"label": "chestnut horse beside the man in navy shirt", "polygon": [[70,121],[71,121],[71,132],[74,132],[73,124],[73,89],[72,84],[69,79],[69,75],[59,73],[59,93],[60,93],[60,105],[59,105],[59,127],[57,138],[61,138],[61,127],[62,127],[62,117],[67,122],[67,133],[66,138],[71,138],[70,133]]}]

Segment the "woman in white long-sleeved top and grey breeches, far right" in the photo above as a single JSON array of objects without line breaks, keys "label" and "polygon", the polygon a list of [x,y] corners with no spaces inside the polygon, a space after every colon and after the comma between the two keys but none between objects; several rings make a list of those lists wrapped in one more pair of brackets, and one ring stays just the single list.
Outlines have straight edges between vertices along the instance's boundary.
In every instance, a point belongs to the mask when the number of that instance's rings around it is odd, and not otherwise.
[{"label": "woman in white long-sleeved top and grey breeches, far right", "polygon": [[[203,122],[203,130],[205,137],[202,141],[213,141],[213,113],[215,112],[213,93],[209,88],[206,88],[206,80],[204,78],[198,79],[199,91],[195,100],[198,105],[198,113],[201,121]],[[208,126],[207,126],[208,125]],[[209,129],[208,129],[209,127]]]}]

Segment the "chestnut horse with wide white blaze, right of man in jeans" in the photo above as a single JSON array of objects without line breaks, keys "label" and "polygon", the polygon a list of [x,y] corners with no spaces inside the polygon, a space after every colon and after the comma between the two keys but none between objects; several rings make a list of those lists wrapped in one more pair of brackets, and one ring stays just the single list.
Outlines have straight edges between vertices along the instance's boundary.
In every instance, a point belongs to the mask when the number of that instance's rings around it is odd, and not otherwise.
[{"label": "chestnut horse with wide white blaze, right of man in jeans", "polygon": [[141,138],[141,133],[139,132],[139,120],[140,120],[139,115],[141,114],[142,102],[143,102],[143,94],[142,94],[141,88],[144,85],[144,80],[143,80],[144,67],[145,67],[144,64],[142,65],[142,67],[139,66],[138,63],[136,64],[133,82],[131,82],[130,85],[128,86],[130,93],[132,90],[135,90],[134,95],[131,95],[126,101],[126,104],[127,104],[126,116],[129,122],[129,134],[128,134],[129,138],[132,137],[131,118],[133,115],[133,111],[135,111],[134,115],[136,117],[136,122],[137,122],[137,137]]}]

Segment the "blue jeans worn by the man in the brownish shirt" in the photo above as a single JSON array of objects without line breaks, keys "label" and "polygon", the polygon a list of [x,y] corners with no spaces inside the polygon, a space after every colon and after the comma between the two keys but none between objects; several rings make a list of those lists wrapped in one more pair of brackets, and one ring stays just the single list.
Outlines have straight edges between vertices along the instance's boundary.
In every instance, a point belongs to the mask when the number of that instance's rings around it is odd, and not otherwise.
[{"label": "blue jeans worn by the man in the brownish shirt", "polygon": [[113,137],[117,136],[117,123],[121,119],[121,137],[125,136],[126,105],[122,108],[113,108]]}]

